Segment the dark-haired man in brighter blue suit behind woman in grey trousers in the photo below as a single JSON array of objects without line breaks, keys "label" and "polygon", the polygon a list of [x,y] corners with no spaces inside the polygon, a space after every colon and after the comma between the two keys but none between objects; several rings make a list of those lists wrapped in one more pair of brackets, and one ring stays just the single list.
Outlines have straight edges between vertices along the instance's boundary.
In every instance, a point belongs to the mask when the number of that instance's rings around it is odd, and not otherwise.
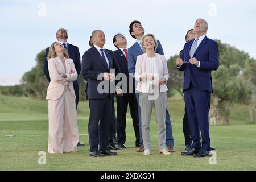
[{"label": "dark-haired man in brighter blue suit behind woman in grey trousers", "polygon": [[[130,23],[129,32],[131,36],[136,39],[136,42],[128,49],[128,71],[131,74],[135,73],[135,65],[137,61],[137,56],[142,55],[142,46],[141,46],[141,38],[144,35],[144,28],[141,25],[141,22],[138,20],[134,20]],[[156,53],[164,55],[163,48],[158,41],[158,47],[156,49]],[[136,93],[136,99],[138,103],[138,117],[139,117],[139,137],[140,137],[140,147],[137,149],[137,152],[143,152],[143,140],[141,133],[141,107],[139,106],[139,94]],[[174,152],[174,137],[172,137],[172,125],[170,115],[168,110],[166,110],[166,146],[168,147],[168,152]]]}]

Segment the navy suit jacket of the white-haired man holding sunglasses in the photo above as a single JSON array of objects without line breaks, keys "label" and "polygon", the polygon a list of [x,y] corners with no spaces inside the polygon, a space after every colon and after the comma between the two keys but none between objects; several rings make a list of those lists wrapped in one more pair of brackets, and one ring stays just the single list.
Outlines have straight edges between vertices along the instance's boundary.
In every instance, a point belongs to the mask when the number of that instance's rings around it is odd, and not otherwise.
[{"label": "navy suit jacket of the white-haired man holding sunglasses", "polygon": [[[189,51],[194,40],[195,39],[192,39],[185,43],[181,54],[181,59],[184,61],[189,61],[190,59]],[[205,36],[197,47],[193,57],[200,61],[200,68],[190,63],[184,63],[180,68],[177,68],[179,71],[185,71],[183,92],[184,90],[189,89],[192,82],[192,85],[195,86],[195,88],[199,90],[207,90],[212,93],[212,70],[218,69],[219,65],[217,42],[208,39],[207,36]]]}]

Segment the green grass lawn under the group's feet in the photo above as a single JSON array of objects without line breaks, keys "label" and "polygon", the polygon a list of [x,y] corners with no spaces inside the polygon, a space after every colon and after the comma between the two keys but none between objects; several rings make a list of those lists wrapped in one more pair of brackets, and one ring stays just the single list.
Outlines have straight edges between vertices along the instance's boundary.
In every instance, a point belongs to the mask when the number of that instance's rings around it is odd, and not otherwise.
[{"label": "green grass lawn under the group's feet", "polygon": [[[126,149],[118,156],[89,157],[88,102],[80,102],[79,134],[85,147],[69,154],[46,154],[46,165],[38,164],[38,152],[47,152],[47,101],[0,95],[0,170],[255,170],[256,125],[250,123],[246,105],[233,105],[229,125],[210,126],[212,145],[217,148],[217,164],[209,158],[181,156],[184,150],[182,98],[169,98],[175,149],[160,155],[154,113],[151,120],[151,155],[135,152],[131,117],[127,114]],[[7,137],[6,135],[15,135]]]}]

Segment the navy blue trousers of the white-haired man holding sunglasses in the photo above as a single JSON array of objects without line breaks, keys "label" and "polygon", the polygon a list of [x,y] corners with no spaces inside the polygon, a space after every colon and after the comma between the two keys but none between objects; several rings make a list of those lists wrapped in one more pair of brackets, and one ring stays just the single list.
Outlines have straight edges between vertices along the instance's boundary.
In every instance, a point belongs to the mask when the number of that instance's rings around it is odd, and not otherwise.
[{"label": "navy blue trousers of the white-haired man holding sunglasses", "polygon": [[[184,92],[185,105],[187,107],[189,131],[193,141],[193,148],[201,148],[210,151],[210,134],[209,134],[209,107],[210,92],[199,90],[191,86]],[[200,133],[201,131],[201,138]]]}]

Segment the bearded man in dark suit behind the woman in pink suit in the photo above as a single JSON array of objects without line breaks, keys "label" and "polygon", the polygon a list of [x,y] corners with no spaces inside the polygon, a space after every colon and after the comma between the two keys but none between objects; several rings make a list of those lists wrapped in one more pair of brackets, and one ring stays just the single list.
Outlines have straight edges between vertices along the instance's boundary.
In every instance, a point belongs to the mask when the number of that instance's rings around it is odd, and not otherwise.
[{"label": "bearded man in dark suit behind the woman in pink suit", "polygon": [[[59,30],[57,30],[56,39],[58,40],[58,42],[63,44],[65,49],[67,49],[69,58],[71,58],[73,60],[77,74],[79,75],[80,71],[81,71],[81,60],[80,60],[79,48],[77,46],[74,46],[67,42],[68,32],[64,28],[60,28]],[[47,61],[48,53],[49,53],[49,47],[46,49],[46,54],[44,55],[44,75],[46,75],[47,80],[50,82],[51,79],[49,77],[48,61]],[[76,107],[77,107],[78,102],[79,102],[79,82],[78,82],[78,80],[73,81],[73,86],[74,86],[74,90],[75,90],[75,94],[76,94]],[[84,146],[84,143],[78,142],[77,146]]]}]

